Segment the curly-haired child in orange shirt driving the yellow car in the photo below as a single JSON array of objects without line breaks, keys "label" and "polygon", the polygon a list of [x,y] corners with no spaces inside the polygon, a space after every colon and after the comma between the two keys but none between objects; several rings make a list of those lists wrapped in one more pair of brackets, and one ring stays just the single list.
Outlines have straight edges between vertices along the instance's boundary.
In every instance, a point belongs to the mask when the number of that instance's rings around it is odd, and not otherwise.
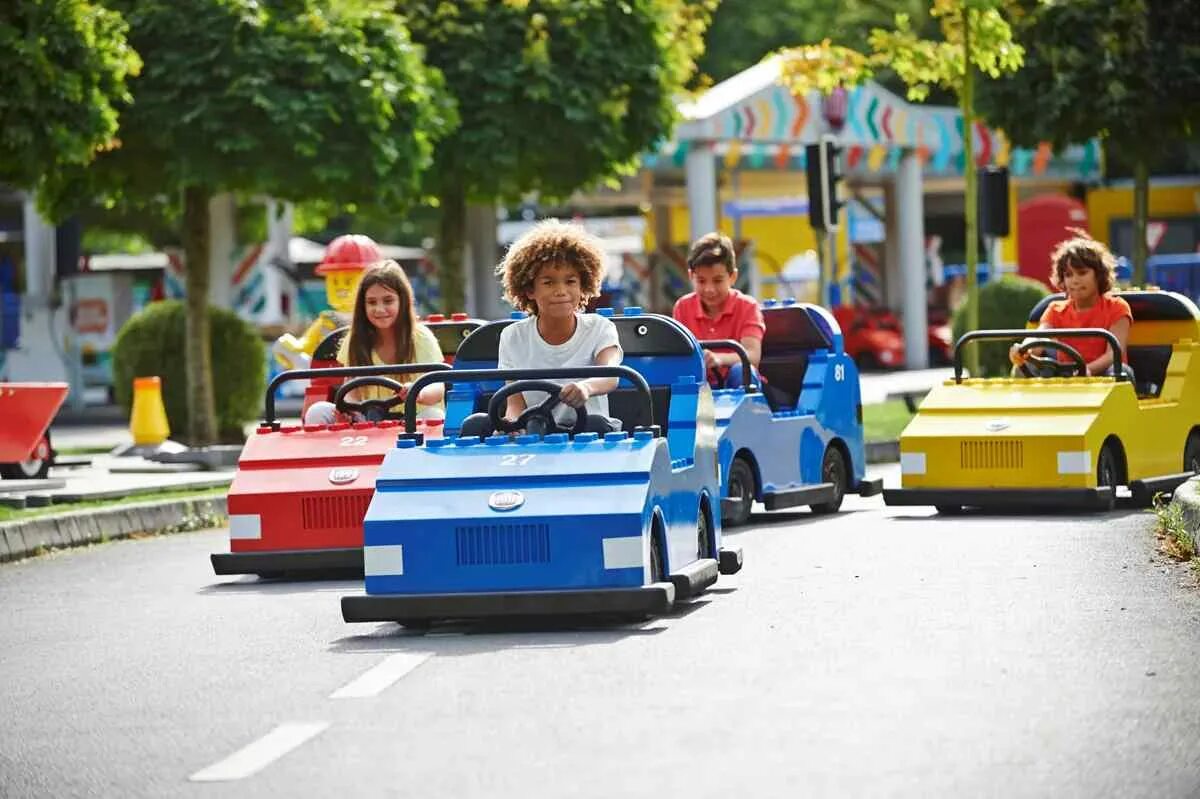
[{"label": "curly-haired child in orange shirt driving the yellow car", "polygon": [[[1123,360],[1128,360],[1133,312],[1122,298],[1110,294],[1116,280],[1116,259],[1108,247],[1082,230],[1074,233],[1078,234],[1074,239],[1060,244],[1050,256],[1050,284],[1067,296],[1046,307],[1038,330],[1102,328],[1116,336]],[[1013,344],[1008,350],[1013,366],[1020,366],[1026,360],[1018,352],[1021,343]],[[1112,373],[1112,348],[1103,338],[1072,338],[1067,343],[1087,361],[1088,374]],[[1066,361],[1066,354],[1058,353],[1058,360]],[[1129,365],[1124,364],[1123,368],[1133,379]]]}]

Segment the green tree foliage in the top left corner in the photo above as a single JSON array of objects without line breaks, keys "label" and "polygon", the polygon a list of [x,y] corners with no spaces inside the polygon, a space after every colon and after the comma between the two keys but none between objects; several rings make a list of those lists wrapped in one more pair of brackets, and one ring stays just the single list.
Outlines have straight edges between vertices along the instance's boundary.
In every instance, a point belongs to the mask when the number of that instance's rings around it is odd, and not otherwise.
[{"label": "green tree foliage in the top left corner", "polygon": [[0,8],[0,184],[36,190],[56,164],[86,166],[112,142],[142,66],[126,30],[84,0]]}]

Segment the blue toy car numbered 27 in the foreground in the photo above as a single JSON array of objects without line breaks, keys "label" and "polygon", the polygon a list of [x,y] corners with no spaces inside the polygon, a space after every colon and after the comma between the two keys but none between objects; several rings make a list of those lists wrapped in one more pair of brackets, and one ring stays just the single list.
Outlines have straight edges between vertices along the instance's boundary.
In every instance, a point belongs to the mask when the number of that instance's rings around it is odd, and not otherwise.
[{"label": "blue toy car numbered 27 in the foreground", "polygon": [[[384,457],[364,525],[366,590],[342,597],[347,621],[644,617],[740,569],[740,551],[721,546],[716,426],[700,346],[673,319],[636,308],[613,323],[622,366],[499,371],[499,335],[511,324],[503,320],[470,334],[454,370],[418,379],[409,397],[448,384],[446,437],[407,432]],[[550,413],[558,386],[540,382],[583,377],[622,378],[608,413],[625,432],[558,427]],[[456,435],[476,410],[496,429],[512,427],[504,400],[522,390],[550,392],[526,416],[540,415],[552,432]],[[582,427],[581,419],[574,429]]]}]

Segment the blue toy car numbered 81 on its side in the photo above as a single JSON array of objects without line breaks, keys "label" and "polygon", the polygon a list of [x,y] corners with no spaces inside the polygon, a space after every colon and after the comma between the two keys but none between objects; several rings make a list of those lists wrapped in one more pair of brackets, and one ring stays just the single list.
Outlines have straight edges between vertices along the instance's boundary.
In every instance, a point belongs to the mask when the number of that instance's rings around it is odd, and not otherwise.
[{"label": "blue toy car numbered 81 on its side", "polygon": [[[762,316],[763,385],[713,392],[727,527],[744,524],[756,499],[767,510],[809,505],[832,513],[847,493],[871,497],[883,489],[882,480],[865,479],[858,368],[833,314],[817,305],[767,300]],[[738,352],[749,374],[737,342],[701,346]]]}]

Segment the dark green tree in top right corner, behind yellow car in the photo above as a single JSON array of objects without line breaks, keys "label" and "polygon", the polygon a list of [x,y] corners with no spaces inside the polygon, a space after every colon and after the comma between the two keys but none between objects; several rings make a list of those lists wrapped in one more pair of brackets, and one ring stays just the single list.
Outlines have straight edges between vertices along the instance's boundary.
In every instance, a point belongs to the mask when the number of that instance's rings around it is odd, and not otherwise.
[{"label": "dark green tree in top right corner, behind yellow car", "polygon": [[[1120,152],[1133,167],[1133,278],[1141,283],[1150,172],[1200,125],[1200,14],[1171,0],[1022,0],[1020,10],[1025,67],[982,88],[979,112],[1021,146],[1099,136]],[[1036,113],[1028,97],[1038,98]]]}]

